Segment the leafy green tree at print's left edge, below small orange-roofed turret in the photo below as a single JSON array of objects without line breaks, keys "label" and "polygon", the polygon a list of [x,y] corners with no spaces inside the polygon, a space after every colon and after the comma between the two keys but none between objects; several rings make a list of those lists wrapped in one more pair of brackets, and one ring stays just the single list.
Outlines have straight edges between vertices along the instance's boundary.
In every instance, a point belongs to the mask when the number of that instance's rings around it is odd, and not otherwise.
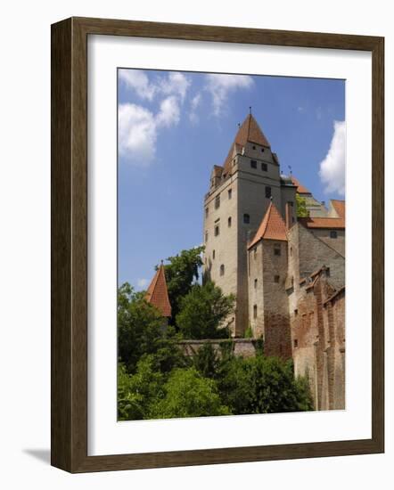
[{"label": "leafy green tree at print's left edge, below small orange-roofed turret", "polygon": [[127,372],[134,373],[142,355],[155,355],[156,368],[163,372],[185,365],[176,346],[174,329],[165,328],[160,312],[125,283],[118,293],[118,355]]}]

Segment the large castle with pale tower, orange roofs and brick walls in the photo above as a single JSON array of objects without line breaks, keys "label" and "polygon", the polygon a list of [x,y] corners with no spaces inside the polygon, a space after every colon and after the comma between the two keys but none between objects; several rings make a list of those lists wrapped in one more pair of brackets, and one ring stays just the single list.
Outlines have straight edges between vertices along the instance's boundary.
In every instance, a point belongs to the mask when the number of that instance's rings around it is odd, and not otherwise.
[{"label": "large castle with pale tower, orange roofs and brick walls", "polygon": [[[296,194],[308,217],[297,217]],[[251,113],[204,199],[205,280],[236,298],[234,338],[249,329],[266,355],[292,357],[316,410],[345,407],[345,201],[317,201],[283,176]]]}]

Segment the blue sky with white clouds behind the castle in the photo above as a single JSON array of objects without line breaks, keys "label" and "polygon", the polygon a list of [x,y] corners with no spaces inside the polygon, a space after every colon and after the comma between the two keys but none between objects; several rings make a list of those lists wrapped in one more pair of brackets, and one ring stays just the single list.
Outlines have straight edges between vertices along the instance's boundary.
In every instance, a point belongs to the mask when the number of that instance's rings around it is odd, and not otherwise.
[{"label": "blue sky with white clouds behind the castle", "polygon": [[345,81],[119,69],[119,284],[202,241],[203,196],[238,123],[259,122],[281,170],[344,199]]}]

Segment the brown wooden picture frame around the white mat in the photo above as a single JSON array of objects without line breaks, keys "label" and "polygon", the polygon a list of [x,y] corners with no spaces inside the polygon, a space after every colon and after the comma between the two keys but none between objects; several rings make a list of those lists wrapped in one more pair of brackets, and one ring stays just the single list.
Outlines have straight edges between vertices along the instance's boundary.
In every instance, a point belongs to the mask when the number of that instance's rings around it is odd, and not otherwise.
[{"label": "brown wooden picture frame around the white mat", "polygon": [[[372,438],[87,455],[87,37],[152,37],[359,50],[373,60]],[[70,18],[52,26],[52,464],[73,473],[384,451],[384,39],[267,29]]]}]

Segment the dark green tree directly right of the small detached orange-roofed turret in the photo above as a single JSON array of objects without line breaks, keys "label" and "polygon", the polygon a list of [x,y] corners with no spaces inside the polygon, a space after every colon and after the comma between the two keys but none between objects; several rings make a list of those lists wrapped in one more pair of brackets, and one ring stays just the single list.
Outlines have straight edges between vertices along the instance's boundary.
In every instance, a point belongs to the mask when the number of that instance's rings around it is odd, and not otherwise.
[{"label": "dark green tree directly right of the small detached orange-roofed turret", "polygon": [[168,257],[169,264],[164,265],[172,311],[171,323],[174,323],[176,314],[179,312],[180,301],[192,289],[193,282],[199,279],[203,250],[203,246],[182,250],[175,257]]}]

